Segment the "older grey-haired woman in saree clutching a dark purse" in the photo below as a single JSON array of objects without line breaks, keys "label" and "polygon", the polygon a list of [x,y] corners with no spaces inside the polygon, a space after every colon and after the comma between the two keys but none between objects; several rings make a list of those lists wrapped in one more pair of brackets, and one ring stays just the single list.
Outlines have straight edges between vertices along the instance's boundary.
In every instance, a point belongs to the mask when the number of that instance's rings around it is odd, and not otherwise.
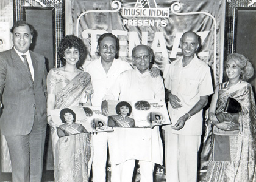
[{"label": "older grey-haired woman in saree clutching a dark purse", "polygon": [[[209,108],[213,135],[205,181],[256,181],[256,107],[252,86],[246,82],[254,69],[238,53],[229,55],[225,66],[229,81],[216,87]],[[232,121],[218,120],[216,115],[224,111],[229,97],[238,101],[241,112]]]}]

